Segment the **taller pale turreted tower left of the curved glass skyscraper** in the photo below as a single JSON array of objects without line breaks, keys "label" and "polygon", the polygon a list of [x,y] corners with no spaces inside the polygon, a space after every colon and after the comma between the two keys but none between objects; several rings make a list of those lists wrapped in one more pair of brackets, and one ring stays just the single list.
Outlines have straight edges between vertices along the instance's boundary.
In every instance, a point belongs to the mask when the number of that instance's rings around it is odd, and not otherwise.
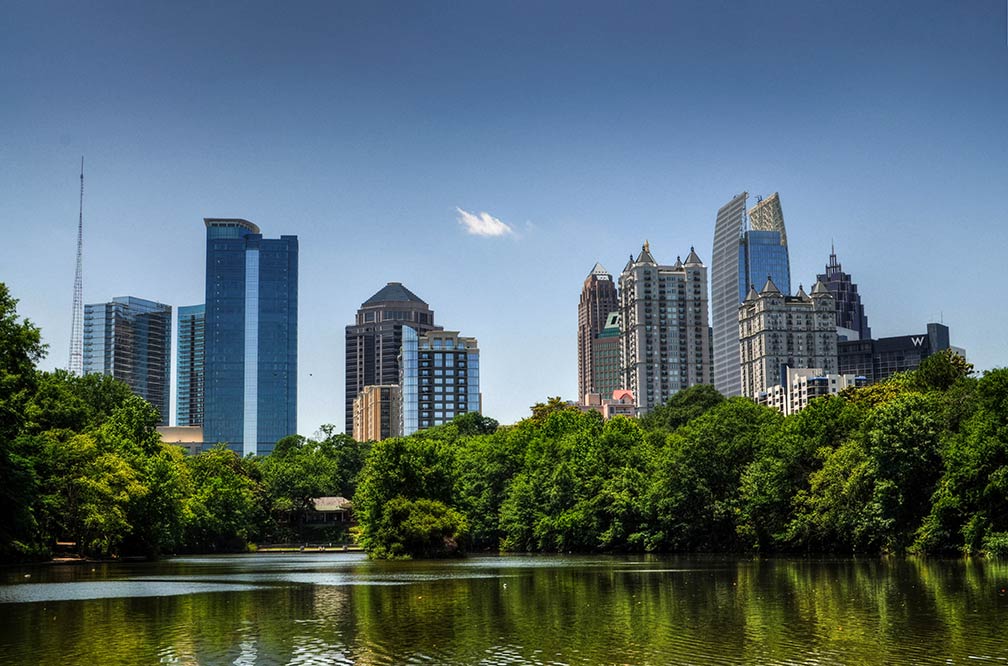
[{"label": "taller pale turreted tower left of the curved glass skyscraper", "polygon": [[685,263],[659,265],[644,243],[620,275],[623,386],[647,413],[676,392],[711,383],[707,267],[692,248]]}]

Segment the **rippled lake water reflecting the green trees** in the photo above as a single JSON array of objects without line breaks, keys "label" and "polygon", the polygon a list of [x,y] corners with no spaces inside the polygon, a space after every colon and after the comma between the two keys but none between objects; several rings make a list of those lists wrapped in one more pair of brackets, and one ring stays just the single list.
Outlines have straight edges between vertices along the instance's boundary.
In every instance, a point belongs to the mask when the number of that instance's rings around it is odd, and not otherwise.
[{"label": "rippled lake water reflecting the green trees", "polygon": [[253,554],[0,583],[0,664],[1008,664],[1004,562]]}]

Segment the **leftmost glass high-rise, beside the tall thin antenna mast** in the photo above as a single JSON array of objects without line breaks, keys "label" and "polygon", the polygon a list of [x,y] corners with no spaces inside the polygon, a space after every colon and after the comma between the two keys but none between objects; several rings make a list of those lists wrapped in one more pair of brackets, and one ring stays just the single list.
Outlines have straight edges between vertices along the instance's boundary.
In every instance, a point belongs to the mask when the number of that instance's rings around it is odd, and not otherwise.
[{"label": "leftmost glass high-rise, beside the tall thin antenna mast", "polygon": [[111,375],[157,408],[171,408],[171,306],[120,296],[84,308],[84,373]]}]

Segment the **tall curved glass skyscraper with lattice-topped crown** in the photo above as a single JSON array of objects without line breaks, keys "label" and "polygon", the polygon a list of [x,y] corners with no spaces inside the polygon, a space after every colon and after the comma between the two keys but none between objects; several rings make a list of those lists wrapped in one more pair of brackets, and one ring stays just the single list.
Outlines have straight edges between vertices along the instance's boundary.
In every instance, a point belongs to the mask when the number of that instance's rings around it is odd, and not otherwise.
[{"label": "tall curved glass skyscraper with lattice-topped crown", "polygon": [[746,215],[748,192],[718,211],[711,269],[714,385],[726,396],[742,394],[739,356],[739,304],[750,287],[769,276],[791,292],[787,232],[780,196],[760,198]]}]

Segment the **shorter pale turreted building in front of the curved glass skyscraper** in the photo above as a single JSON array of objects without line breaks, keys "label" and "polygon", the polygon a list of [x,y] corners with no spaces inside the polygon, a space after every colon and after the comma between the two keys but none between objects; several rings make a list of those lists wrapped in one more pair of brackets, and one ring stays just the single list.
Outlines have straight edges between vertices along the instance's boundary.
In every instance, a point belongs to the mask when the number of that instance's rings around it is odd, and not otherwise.
[{"label": "shorter pale turreted building in front of the curved glass skyscraper", "polygon": [[788,368],[837,374],[837,323],[833,295],[816,282],[785,296],[773,280],[750,287],[739,306],[742,395],[758,398],[774,385],[787,386]]}]

